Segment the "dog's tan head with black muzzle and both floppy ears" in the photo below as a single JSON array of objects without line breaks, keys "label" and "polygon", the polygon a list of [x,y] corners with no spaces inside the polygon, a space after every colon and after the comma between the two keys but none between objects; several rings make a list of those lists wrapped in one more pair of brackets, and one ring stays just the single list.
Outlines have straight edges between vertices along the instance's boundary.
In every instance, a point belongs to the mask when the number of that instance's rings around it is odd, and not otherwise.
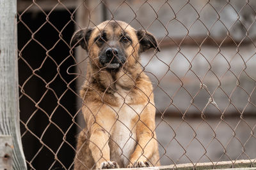
[{"label": "dog's tan head with black muzzle and both floppy ears", "polygon": [[91,64],[106,69],[132,66],[140,53],[150,48],[159,51],[152,34],[136,31],[127,23],[115,20],[75,32],[70,46],[78,45],[87,50]]}]

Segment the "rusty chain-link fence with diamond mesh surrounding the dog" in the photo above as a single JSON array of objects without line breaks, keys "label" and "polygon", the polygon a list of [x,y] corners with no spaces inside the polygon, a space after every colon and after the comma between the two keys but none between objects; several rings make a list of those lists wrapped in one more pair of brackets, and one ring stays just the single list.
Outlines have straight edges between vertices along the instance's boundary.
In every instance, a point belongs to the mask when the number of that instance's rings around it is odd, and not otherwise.
[{"label": "rusty chain-link fence with diamond mesh surrounding the dog", "polygon": [[152,32],[161,48],[142,53],[140,61],[153,85],[161,165],[231,160],[236,167],[241,159],[253,165],[255,9],[255,1],[239,0],[18,0],[20,128],[28,168],[74,168],[89,57],[70,39],[104,20]]}]

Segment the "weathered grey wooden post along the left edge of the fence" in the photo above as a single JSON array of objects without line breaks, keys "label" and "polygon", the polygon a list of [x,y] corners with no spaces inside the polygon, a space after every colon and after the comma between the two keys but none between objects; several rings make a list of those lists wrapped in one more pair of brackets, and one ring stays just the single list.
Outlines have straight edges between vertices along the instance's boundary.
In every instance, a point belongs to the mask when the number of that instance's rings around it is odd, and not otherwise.
[{"label": "weathered grey wooden post along the left edge of the fence", "polygon": [[[13,151],[0,158],[12,160],[12,169],[24,170],[27,167],[20,138],[17,60],[17,0],[0,0],[0,141]],[[6,136],[12,137],[12,143]]]}]

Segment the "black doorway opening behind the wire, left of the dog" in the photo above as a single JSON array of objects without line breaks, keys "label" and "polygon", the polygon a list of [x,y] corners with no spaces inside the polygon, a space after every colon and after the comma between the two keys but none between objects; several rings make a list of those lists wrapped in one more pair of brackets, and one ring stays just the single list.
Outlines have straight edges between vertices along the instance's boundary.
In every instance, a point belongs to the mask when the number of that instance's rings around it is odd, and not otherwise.
[{"label": "black doorway opening behind the wire, left of the dog", "polygon": [[20,92],[20,130],[28,169],[68,169],[74,160],[76,95],[70,89],[76,91],[76,81],[70,83],[75,76],[67,73],[75,63],[68,47],[73,32],[64,10],[52,11],[49,22],[42,12],[18,19],[19,90],[25,93]]}]

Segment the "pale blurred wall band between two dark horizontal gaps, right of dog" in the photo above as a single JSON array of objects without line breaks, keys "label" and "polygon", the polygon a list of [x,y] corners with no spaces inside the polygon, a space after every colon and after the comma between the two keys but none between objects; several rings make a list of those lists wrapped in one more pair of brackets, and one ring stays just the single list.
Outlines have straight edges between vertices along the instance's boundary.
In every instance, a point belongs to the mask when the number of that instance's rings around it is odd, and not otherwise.
[{"label": "pale blurred wall band between two dark horizontal gaps, right of dog", "polygon": [[[156,108],[168,113],[198,113],[203,111],[209,98],[218,108],[209,104],[206,114],[255,113],[255,47],[196,46],[164,48],[142,55],[142,64],[154,84]],[[207,90],[200,89],[201,83]],[[192,97],[194,100],[192,101]],[[249,103],[250,101],[250,103]],[[191,104],[193,103],[193,104]]]}]

